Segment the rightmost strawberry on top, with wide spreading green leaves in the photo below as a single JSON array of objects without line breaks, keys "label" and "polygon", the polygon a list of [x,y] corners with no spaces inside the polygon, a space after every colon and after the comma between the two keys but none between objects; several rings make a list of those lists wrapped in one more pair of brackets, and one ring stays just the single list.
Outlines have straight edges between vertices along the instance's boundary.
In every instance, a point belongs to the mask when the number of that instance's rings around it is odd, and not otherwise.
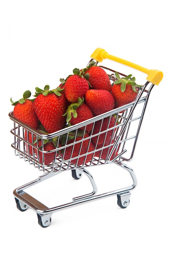
[{"label": "rightmost strawberry on top, with wide spreading green leaves", "polygon": [[141,85],[135,83],[135,77],[128,75],[120,78],[119,74],[115,72],[117,80],[114,81],[111,93],[115,99],[115,108],[119,108],[128,103],[135,101],[139,88]]}]

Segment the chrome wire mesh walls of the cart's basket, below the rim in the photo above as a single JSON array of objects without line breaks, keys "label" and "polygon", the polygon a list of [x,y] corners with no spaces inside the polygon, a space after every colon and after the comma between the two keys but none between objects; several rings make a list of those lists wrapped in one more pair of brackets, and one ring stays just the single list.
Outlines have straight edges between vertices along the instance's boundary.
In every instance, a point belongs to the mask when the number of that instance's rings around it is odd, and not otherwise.
[{"label": "chrome wire mesh walls of the cart's basket, below the rim", "polygon": [[[12,147],[15,155],[44,172],[106,164],[109,162],[110,153],[112,162],[121,159],[129,161],[132,159],[141,124],[144,99],[139,101],[132,115],[134,103],[129,104],[123,111],[113,110],[73,126],[70,130],[56,132],[53,137],[57,138],[57,146],[52,149],[45,148],[43,136],[38,136],[31,129],[27,130],[25,126],[14,122],[11,133],[14,135]],[[87,132],[86,127],[89,125],[91,131]]]}]

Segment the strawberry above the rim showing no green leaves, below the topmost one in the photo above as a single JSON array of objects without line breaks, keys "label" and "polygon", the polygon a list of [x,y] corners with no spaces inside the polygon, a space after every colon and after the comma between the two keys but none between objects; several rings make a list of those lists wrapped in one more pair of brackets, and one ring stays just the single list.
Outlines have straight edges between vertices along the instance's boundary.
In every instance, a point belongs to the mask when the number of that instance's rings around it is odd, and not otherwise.
[{"label": "strawberry above the rim showing no green leaves, below the topmost one", "polygon": [[88,90],[85,101],[94,116],[113,110],[115,106],[113,95],[106,90]]}]

